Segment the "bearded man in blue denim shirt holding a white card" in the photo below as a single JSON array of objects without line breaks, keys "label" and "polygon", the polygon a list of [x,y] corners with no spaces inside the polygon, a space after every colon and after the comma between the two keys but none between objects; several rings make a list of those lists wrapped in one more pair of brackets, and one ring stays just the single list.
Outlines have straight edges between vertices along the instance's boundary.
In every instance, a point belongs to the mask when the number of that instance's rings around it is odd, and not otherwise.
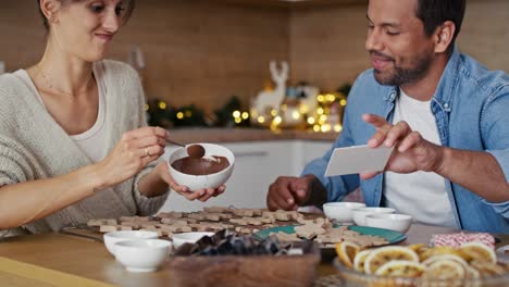
[{"label": "bearded man in blue denim shirt holding a white card", "polygon": [[384,173],[324,177],[331,149],[269,188],[271,210],[362,190],[426,224],[509,233],[509,77],[459,53],[464,0],[370,0],[373,68],[353,84],[333,148],[395,147]]}]

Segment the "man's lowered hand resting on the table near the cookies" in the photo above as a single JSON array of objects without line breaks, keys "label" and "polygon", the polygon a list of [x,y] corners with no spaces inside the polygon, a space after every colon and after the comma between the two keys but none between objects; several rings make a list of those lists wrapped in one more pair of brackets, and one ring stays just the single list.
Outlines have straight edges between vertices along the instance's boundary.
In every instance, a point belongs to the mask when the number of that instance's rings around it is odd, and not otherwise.
[{"label": "man's lowered hand resting on the table near the cookies", "polygon": [[269,210],[297,210],[311,196],[311,186],[314,176],[302,177],[280,176],[269,187],[266,205]]}]

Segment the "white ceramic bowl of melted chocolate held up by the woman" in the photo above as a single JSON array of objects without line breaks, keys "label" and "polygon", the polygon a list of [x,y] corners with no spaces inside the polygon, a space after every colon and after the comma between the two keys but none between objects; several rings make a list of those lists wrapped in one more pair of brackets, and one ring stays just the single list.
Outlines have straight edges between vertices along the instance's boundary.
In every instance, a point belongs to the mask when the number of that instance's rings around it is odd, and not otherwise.
[{"label": "white ceramic bowl of melted chocolate held up by the woman", "polygon": [[172,167],[172,163],[174,161],[188,157],[185,147],[181,147],[174,150],[167,159],[167,169],[170,171],[170,175],[173,177],[173,179],[175,179],[177,184],[187,186],[190,190],[194,191],[203,188],[218,188],[222,186],[224,183],[226,183],[226,180],[228,180],[234,170],[235,157],[233,152],[227,148],[219,145],[202,142],[198,145],[201,145],[204,148],[204,157],[225,157],[229,162],[229,166],[219,173],[209,175],[191,175],[181,173]]}]

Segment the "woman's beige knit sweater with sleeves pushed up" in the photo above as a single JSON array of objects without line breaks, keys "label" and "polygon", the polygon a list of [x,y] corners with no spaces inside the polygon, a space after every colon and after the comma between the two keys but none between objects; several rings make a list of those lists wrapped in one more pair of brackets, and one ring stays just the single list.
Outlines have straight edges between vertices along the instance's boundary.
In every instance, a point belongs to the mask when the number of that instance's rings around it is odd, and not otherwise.
[{"label": "woman's beige knit sweater with sleeves pushed up", "polygon": [[[146,125],[145,98],[138,74],[128,65],[102,61],[95,64],[97,70],[102,73],[98,73],[101,77],[96,79],[105,87],[104,128],[109,136],[103,145],[110,151],[123,133]],[[91,164],[84,151],[47,112],[36,92],[32,83],[28,85],[16,74],[0,76],[0,186],[51,178]],[[0,238],[55,232],[62,226],[86,223],[90,219],[153,214],[164,203],[169,192],[147,198],[137,188],[139,178],[153,166],[151,164],[134,178],[45,219],[20,228],[0,230]],[[0,202],[0,221],[1,207],[5,204],[10,203]]]}]

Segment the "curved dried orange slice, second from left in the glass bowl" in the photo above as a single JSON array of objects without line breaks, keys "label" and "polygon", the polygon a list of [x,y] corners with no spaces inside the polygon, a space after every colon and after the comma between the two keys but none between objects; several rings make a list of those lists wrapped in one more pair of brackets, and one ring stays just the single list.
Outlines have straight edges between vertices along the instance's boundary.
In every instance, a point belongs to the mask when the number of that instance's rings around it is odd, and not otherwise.
[{"label": "curved dried orange slice, second from left in the glass bowl", "polygon": [[364,272],[374,274],[382,265],[393,260],[419,262],[419,255],[413,250],[401,246],[381,247],[368,254],[364,262]]}]

